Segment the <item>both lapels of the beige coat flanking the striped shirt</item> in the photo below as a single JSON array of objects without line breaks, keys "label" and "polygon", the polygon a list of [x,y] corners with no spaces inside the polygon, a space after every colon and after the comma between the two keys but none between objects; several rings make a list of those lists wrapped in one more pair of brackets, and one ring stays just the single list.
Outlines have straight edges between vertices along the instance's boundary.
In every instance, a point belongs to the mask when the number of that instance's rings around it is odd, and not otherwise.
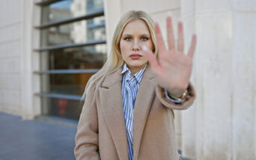
[{"label": "both lapels of the beige coat flanking the striped shirt", "polygon": [[[104,112],[107,127],[110,129],[119,159],[128,160],[125,118],[122,106],[122,68],[107,75],[99,88],[99,99]],[[134,104],[134,160],[137,159],[143,129],[146,124],[156,83],[149,65],[143,74],[143,80]]]}]

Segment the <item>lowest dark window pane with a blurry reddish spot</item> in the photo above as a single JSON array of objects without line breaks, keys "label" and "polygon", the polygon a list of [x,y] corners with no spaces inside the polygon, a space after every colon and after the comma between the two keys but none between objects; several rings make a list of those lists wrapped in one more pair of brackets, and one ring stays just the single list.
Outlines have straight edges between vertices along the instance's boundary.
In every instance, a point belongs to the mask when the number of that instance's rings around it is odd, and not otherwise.
[{"label": "lowest dark window pane with a blurry reddish spot", "polygon": [[63,98],[42,98],[43,115],[54,115],[62,118],[78,120],[84,101]]}]

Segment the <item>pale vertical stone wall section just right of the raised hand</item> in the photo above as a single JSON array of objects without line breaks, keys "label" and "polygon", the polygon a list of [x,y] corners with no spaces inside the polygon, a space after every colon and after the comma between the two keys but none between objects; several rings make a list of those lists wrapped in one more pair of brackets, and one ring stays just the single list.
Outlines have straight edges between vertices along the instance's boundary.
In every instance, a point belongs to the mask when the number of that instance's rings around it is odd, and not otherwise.
[{"label": "pale vertical stone wall section just right of the raised hand", "polygon": [[231,6],[196,0],[196,159],[232,157]]}]

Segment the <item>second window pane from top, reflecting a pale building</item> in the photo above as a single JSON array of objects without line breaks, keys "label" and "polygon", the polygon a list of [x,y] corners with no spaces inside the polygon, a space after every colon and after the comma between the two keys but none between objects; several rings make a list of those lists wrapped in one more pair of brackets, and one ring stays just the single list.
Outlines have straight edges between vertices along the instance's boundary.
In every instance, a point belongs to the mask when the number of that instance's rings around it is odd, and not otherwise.
[{"label": "second window pane from top, reflecting a pale building", "polygon": [[85,43],[104,39],[106,39],[106,36],[103,16],[65,25],[57,25],[43,29],[41,32],[42,47],[70,43]]}]

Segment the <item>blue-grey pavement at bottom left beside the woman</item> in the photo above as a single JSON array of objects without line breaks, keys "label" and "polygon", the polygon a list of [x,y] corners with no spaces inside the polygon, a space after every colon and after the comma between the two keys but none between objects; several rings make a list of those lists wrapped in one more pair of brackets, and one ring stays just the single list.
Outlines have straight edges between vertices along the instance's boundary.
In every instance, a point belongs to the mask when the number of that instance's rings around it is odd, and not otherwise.
[{"label": "blue-grey pavement at bottom left beside the woman", "polygon": [[75,127],[0,112],[0,160],[75,159]]}]

